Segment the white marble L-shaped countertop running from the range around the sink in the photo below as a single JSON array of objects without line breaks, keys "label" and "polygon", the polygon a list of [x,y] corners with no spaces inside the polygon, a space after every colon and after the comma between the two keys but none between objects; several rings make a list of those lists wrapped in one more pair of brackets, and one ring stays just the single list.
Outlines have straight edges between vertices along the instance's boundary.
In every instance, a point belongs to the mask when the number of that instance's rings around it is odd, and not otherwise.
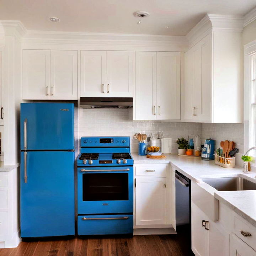
[{"label": "white marble L-shaped countertop running from the range around the sink", "polygon": [[[164,154],[166,159],[149,159],[132,153],[134,164],[171,164],[177,171],[201,183],[203,178],[243,177],[256,183],[255,172],[244,174],[242,167],[223,168],[214,164],[214,160],[201,160],[200,157],[178,156],[177,154]],[[215,188],[214,188],[215,190]],[[256,226],[256,191],[217,191],[214,197],[226,204],[229,208]]]}]

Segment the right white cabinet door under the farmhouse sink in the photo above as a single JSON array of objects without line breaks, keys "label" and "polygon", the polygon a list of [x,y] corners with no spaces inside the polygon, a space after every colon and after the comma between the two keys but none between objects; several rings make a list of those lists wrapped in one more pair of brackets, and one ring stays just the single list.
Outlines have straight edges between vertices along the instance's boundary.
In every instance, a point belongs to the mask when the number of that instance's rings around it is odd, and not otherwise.
[{"label": "right white cabinet door under the farmhouse sink", "polygon": [[210,222],[209,225],[209,255],[229,255],[229,233],[219,222]]}]

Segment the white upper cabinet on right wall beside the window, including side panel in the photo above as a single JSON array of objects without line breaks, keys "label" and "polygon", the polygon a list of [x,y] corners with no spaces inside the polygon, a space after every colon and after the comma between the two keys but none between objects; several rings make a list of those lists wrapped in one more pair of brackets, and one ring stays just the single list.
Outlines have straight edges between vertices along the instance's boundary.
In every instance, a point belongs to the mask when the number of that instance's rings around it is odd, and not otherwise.
[{"label": "white upper cabinet on right wall beside the window, including side panel", "polygon": [[239,32],[214,31],[184,54],[182,121],[243,121],[240,37]]}]

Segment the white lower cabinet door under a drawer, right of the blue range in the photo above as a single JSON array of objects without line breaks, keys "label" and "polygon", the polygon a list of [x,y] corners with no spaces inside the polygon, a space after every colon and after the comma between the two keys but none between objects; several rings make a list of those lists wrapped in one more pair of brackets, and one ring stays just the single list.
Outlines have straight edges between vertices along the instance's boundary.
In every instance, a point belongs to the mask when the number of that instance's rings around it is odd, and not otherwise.
[{"label": "white lower cabinet door under a drawer, right of the blue range", "polygon": [[166,178],[136,178],[135,225],[166,224]]}]

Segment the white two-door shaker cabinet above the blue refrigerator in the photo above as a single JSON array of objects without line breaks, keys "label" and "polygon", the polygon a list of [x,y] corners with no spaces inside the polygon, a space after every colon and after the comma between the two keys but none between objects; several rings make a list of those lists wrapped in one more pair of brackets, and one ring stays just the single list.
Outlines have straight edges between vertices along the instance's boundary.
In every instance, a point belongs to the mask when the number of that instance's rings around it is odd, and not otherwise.
[{"label": "white two-door shaker cabinet above the blue refrigerator", "polygon": [[23,100],[77,100],[75,50],[23,50]]}]

